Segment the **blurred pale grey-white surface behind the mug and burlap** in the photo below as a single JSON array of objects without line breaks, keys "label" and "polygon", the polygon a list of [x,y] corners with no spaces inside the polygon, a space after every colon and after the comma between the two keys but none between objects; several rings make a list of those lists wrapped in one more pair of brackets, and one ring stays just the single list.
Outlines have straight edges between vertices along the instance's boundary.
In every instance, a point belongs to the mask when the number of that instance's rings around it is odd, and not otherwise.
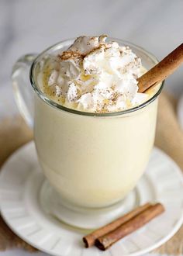
[{"label": "blurred pale grey-white surface behind the mug and burlap", "polygon": [[[182,43],[182,13],[182,0],[0,0],[0,119],[18,113],[10,74],[22,54],[39,53],[74,36],[107,33],[161,59]],[[182,71],[165,85],[176,96],[183,93]],[[34,254],[12,250],[0,255]]]}]

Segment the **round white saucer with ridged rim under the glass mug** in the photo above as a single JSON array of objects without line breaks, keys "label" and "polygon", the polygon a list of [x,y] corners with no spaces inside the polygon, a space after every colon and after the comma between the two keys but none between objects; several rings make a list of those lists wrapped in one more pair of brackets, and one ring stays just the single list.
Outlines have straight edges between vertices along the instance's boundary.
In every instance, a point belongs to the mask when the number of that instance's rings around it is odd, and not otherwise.
[{"label": "round white saucer with ridged rim under the glass mug", "polygon": [[[0,209],[9,227],[40,251],[58,256],[105,255],[137,256],[164,244],[183,223],[183,178],[178,166],[161,150],[154,148],[147,170],[136,189],[124,199],[123,213],[130,209],[138,195],[138,205],[162,202],[165,213],[147,225],[124,237],[109,248],[86,249],[82,237],[90,230],[71,227],[47,214],[40,204],[40,192],[45,185],[33,142],[12,154],[0,174]],[[133,207],[133,206],[131,206]]]}]

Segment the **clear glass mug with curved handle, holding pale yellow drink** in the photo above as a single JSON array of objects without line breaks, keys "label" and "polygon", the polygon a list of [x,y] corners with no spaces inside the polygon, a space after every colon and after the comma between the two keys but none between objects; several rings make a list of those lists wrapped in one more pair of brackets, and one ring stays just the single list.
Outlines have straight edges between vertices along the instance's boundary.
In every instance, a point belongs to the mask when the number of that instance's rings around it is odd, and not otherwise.
[{"label": "clear glass mug with curved handle, holding pale yellow drink", "polygon": [[[162,85],[147,102],[120,112],[91,113],[60,106],[40,90],[41,61],[73,41],[20,58],[12,81],[19,110],[33,126],[38,159],[50,185],[67,206],[96,209],[122,200],[143,175],[154,145]],[[157,64],[146,50],[116,41],[129,45],[145,68]],[[28,79],[32,87],[26,85]]]}]

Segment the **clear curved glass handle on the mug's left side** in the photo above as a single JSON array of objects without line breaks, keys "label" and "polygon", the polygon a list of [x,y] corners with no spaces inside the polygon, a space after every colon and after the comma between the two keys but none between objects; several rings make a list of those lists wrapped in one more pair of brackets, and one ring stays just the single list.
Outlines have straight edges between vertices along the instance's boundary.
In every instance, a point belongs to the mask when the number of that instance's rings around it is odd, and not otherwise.
[{"label": "clear curved glass handle on the mug's left side", "polygon": [[12,87],[19,112],[33,129],[34,95],[29,81],[29,70],[37,54],[26,54],[12,67]]}]

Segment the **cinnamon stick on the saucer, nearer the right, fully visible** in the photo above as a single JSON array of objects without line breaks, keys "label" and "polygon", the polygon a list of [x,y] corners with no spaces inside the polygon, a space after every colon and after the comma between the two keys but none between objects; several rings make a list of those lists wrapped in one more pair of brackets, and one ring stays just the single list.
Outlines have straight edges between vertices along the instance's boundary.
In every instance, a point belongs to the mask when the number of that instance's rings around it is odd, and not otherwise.
[{"label": "cinnamon stick on the saucer, nearer the right, fully visible", "polygon": [[105,234],[102,237],[98,237],[95,240],[95,246],[100,250],[105,251],[112,244],[116,243],[119,239],[126,237],[128,234],[131,234],[133,231],[137,230],[140,227],[143,227],[154,217],[160,215],[164,212],[164,206],[161,203],[157,203],[154,206],[150,206],[145,209],[142,213],[134,216],[133,219],[124,223],[120,227],[117,227],[116,230],[112,230],[110,233]]}]

